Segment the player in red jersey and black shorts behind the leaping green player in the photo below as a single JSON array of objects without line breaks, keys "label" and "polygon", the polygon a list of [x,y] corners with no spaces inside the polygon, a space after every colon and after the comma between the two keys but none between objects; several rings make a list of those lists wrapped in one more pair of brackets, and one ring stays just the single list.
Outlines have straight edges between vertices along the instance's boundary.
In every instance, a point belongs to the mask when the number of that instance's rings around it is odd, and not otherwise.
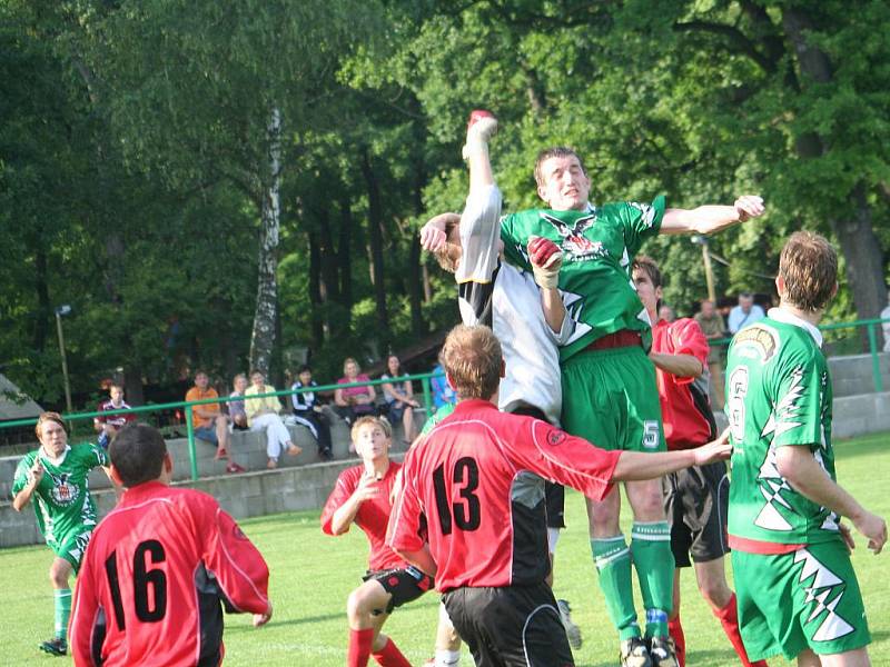
[{"label": "player in red jersey and black shorts behind the leaping green player", "polygon": [[[659,382],[661,414],[668,450],[701,447],[714,437],[716,425],[708,398],[708,339],[699,322],[683,318],[673,322],[659,320],[656,312],[662,295],[659,266],[649,257],[633,262],[633,281],[652,327],[652,352]],[[657,320],[657,321],[656,321]],[[745,667],[765,667],[760,660],[751,663],[739,634],[735,595],[726,584],[723,557],[726,544],[729,479],[726,465],[714,461],[693,466],[664,477],[664,505],[671,522],[671,549],[674,554],[674,606],[668,628],[676,645],[680,667],[686,661],[685,637],[680,623],[680,573],[690,566],[695,569],[699,590],[720,620],[739,659]]]}]

